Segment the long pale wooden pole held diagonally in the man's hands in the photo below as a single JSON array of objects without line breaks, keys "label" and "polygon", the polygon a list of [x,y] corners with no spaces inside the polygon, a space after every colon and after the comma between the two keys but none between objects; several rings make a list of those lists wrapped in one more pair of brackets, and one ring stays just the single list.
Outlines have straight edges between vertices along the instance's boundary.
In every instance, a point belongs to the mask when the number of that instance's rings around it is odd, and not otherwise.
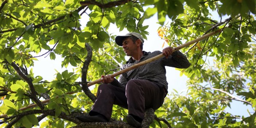
[{"label": "long pale wooden pole held diagonally in the man's hands", "polygon": [[[201,37],[199,37],[199,38],[197,38],[197,39],[191,40],[191,41],[189,41],[189,42],[187,42],[187,43],[185,43],[185,44],[182,44],[182,45],[180,45],[180,46],[178,46],[178,47],[173,48],[172,50],[173,50],[173,51],[180,50],[180,49],[182,49],[182,48],[184,48],[184,47],[187,47],[187,46],[190,46],[191,44],[196,43],[196,42],[198,42],[198,41],[200,41],[200,40],[202,40],[202,39],[205,39],[205,38],[207,38],[207,37],[209,37],[209,36],[212,36],[212,35],[214,35],[214,34],[216,34],[216,33],[218,33],[218,32],[221,32],[221,29],[220,29],[220,30],[217,30],[217,31],[214,31],[214,32],[210,32],[210,33],[208,33],[208,34],[206,34],[206,35],[203,35],[203,36],[201,36]],[[155,57],[153,57],[153,58],[147,59],[147,60],[145,60],[145,61],[142,61],[142,62],[137,63],[137,64],[135,64],[135,65],[132,65],[132,66],[130,66],[130,67],[127,67],[127,68],[125,68],[125,69],[123,69],[123,70],[117,71],[116,73],[111,74],[110,77],[111,77],[111,78],[114,78],[114,77],[116,77],[117,75],[126,73],[127,71],[130,71],[130,70],[132,70],[132,69],[135,69],[135,68],[137,68],[137,67],[139,67],[139,66],[141,66],[141,65],[145,65],[145,64],[147,64],[147,63],[153,62],[153,61],[155,61],[155,60],[157,60],[157,59],[159,59],[159,58],[162,58],[162,57],[164,57],[164,55],[163,55],[163,54],[159,54],[159,55],[157,55],[157,56],[155,56]],[[92,81],[92,82],[90,82],[90,83],[88,83],[87,86],[89,87],[89,86],[98,84],[98,83],[100,83],[100,82],[101,82],[101,78],[100,78],[100,79],[97,79],[97,80],[95,80],[95,81]],[[75,92],[69,92],[69,93],[67,93],[67,94],[73,94],[73,93],[75,93]],[[57,96],[57,97],[58,97],[58,96]],[[46,103],[49,102],[49,101],[50,101],[50,99],[44,100],[44,101],[42,101],[42,104],[46,104]],[[38,105],[37,105],[37,104],[31,104],[31,105],[28,105],[27,107],[21,108],[21,109],[19,109],[19,110],[25,110],[25,109],[27,109],[27,108],[32,108],[32,107],[36,107],[36,106],[38,106]],[[0,118],[1,118],[1,117],[7,117],[7,115],[6,115],[6,114],[5,114],[5,115],[1,115]]]}]

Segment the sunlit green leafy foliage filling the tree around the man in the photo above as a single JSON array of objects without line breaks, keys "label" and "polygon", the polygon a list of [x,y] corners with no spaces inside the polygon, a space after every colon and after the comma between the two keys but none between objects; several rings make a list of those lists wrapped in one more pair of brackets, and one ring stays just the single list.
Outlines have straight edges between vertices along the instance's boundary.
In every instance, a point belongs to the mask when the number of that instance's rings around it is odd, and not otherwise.
[{"label": "sunlit green leafy foliage filling the tree around the man", "polygon": [[[163,26],[158,30],[159,36],[172,47],[222,29],[220,34],[182,49],[192,64],[188,69],[178,69],[190,78],[187,96],[169,92],[156,116],[175,128],[256,128],[256,112],[241,117],[225,111],[233,100],[256,108],[255,3],[256,0],[1,1],[0,114],[7,116],[1,118],[1,127],[30,128],[42,119],[42,128],[79,124],[73,120],[74,114],[89,112],[97,92],[97,85],[86,91],[87,81],[114,73],[125,61],[123,50],[115,46],[115,35],[108,32],[110,24],[120,31],[139,32],[147,39],[148,26],[143,22],[156,14]],[[212,18],[212,12],[229,18],[218,21]],[[81,23],[79,19],[84,15],[88,22]],[[166,16],[171,19],[168,24],[164,24]],[[86,27],[81,29],[81,24]],[[32,67],[42,56],[53,60],[60,56],[61,66],[73,66],[74,71],[58,72],[53,81],[34,76]],[[32,103],[36,106],[20,110]],[[123,120],[126,115],[126,109],[114,106],[114,119]],[[168,125],[154,120],[151,127]]]}]

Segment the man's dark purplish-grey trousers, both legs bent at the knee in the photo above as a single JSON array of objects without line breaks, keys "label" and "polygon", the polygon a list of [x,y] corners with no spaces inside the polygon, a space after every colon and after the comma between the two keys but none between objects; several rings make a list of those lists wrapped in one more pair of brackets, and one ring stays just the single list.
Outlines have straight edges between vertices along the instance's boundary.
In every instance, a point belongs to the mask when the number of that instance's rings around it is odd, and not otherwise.
[{"label": "man's dark purplish-grey trousers, both legs bent at the knee", "polygon": [[128,114],[144,119],[145,109],[156,110],[162,106],[166,92],[162,85],[141,79],[131,79],[125,89],[101,84],[89,115],[98,112],[110,119],[115,104],[128,109]]}]

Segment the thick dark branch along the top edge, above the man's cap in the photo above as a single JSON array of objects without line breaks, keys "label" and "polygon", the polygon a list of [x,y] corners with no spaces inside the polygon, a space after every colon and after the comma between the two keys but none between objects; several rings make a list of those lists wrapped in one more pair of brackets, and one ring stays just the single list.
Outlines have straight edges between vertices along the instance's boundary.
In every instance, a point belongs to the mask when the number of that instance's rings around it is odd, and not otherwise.
[{"label": "thick dark branch along the top edge, above the man's cap", "polygon": [[100,8],[111,8],[111,7],[121,5],[121,4],[128,3],[129,1],[131,1],[131,0],[119,0],[119,1],[113,1],[113,2],[106,3],[106,4],[102,4],[95,0],[89,0],[89,1],[81,1],[80,4],[82,6],[87,6],[87,5],[93,4],[93,5],[97,5]]}]

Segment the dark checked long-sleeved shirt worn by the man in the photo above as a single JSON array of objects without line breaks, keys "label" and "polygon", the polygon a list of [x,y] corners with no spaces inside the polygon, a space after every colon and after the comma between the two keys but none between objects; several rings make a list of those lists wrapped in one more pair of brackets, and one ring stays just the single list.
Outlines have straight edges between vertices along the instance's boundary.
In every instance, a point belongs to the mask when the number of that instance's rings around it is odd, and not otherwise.
[{"label": "dark checked long-sleeved shirt worn by the man", "polygon": [[[159,54],[162,54],[162,52],[154,51],[151,53],[143,51],[143,56],[140,58],[140,61],[133,60],[131,57],[126,62],[126,64],[121,67],[121,70],[130,67],[136,63],[139,63],[141,61],[145,61],[149,58],[155,57]],[[187,60],[186,56],[182,54],[180,51],[175,51],[168,58],[163,57],[154,62],[147,63],[145,65],[137,67],[136,69],[132,69],[130,71],[127,71],[126,73],[121,74],[119,77],[119,81],[117,81],[117,79],[114,79],[114,81],[111,82],[111,84],[119,86],[121,88],[125,88],[127,82],[131,79],[144,79],[163,85],[167,91],[168,83],[166,81],[165,66],[183,69],[188,68],[190,66],[190,62]]]}]

